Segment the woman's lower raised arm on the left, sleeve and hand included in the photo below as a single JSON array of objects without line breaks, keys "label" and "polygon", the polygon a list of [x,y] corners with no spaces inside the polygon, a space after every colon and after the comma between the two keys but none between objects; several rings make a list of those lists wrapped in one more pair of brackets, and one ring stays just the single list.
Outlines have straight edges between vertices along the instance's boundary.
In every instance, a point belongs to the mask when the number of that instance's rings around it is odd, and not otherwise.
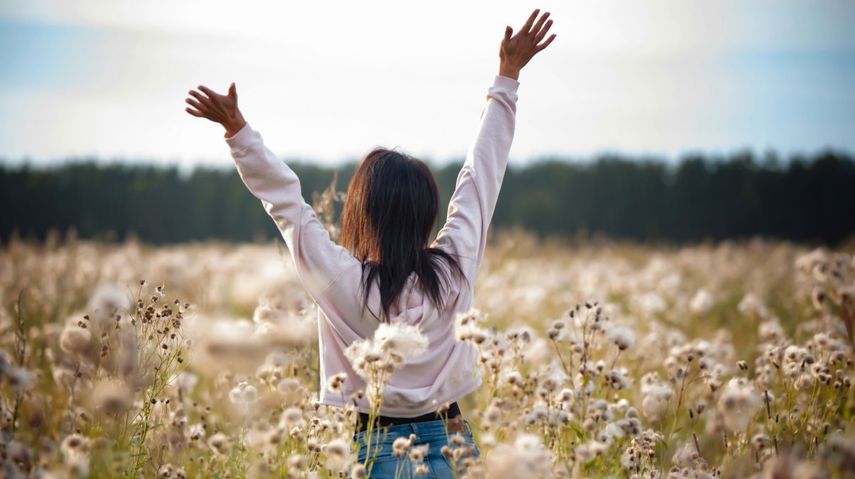
[{"label": "woman's lower raised arm on the left, sleeve and hand included", "polygon": [[226,143],[246,187],[262,201],[264,209],[291,251],[298,277],[315,301],[320,301],[351,254],[330,240],[315,211],[303,199],[297,175],[264,146],[262,136],[244,120],[238,93],[232,84],[227,95],[203,86],[190,91],[187,113],[207,118],[226,129]]}]

